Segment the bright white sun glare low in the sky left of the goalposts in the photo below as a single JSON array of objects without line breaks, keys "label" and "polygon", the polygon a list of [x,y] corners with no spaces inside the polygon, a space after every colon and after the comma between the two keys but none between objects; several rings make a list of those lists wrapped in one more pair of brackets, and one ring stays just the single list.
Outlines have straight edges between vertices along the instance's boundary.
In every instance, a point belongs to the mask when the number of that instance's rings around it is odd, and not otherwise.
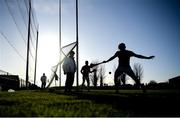
[{"label": "bright white sun glare low in the sky left of the goalposts", "polygon": [[51,68],[58,63],[59,40],[58,35],[52,32],[41,35],[38,48],[37,84],[40,85],[40,77],[43,73],[50,78]]}]

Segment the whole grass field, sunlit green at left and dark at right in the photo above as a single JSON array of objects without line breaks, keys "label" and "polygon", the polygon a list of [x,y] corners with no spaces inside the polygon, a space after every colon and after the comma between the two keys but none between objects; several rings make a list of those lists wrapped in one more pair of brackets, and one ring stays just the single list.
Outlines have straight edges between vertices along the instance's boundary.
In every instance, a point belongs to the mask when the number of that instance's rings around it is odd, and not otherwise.
[{"label": "whole grass field, sunlit green at left and dark at right", "polygon": [[180,116],[179,90],[0,92],[0,117]]}]

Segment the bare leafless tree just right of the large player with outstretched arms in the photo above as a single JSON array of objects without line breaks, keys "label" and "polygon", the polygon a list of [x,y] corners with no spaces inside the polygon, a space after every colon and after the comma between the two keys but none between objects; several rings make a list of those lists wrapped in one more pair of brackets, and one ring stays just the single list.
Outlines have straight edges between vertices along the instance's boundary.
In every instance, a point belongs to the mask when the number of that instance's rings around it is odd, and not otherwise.
[{"label": "bare leafless tree just right of the large player with outstretched arms", "polygon": [[143,66],[141,64],[139,64],[139,63],[135,63],[133,71],[134,71],[134,74],[136,75],[136,77],[141,82],[141,80],[143,78]]}]

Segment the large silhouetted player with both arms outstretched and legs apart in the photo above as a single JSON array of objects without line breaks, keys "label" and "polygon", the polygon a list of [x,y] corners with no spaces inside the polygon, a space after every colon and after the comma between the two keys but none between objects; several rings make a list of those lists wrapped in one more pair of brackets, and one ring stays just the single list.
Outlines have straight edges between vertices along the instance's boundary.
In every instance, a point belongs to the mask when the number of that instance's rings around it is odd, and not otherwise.
[{"label": "large silhouetted player with both arms outstretched and legs apart", "polygon": [[135,54],[132,51],[126,50],[126,45],[124,43],[119,44],[118,48],[120,51],[117,51],[114,54],[114,56],[109,58],[107,61],[103,61],[104,63],[107,63],[115,59],[116,57],[119,58],[119,65],[114,74],[114,83],[116,86],[116,92],[118,92],[118,77],[123,73],[129,75],[136,82],[136,85],[140,87],[141,86],[140,80],[135,76],[133,70],[130,67],[130,57],[137,57],[141,59],[153,59],[155,56],[146,57],[143,55]]}]

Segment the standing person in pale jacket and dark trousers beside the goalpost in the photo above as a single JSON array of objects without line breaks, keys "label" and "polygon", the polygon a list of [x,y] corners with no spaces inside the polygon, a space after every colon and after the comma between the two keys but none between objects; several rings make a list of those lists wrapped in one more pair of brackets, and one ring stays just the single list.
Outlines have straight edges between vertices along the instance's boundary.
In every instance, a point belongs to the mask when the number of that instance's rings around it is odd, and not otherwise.
[{"label": "standing person in pale jacket and dark trousers beside the goalpost", "polygon": [[66,74],[65,92],[71,92],[72,85],[74,83],[74,74],[77,69],[74,54],[74,51],[71,51],[69,53],[69,57],[66,57],[63,63],[63,71],[64,74]]}]

